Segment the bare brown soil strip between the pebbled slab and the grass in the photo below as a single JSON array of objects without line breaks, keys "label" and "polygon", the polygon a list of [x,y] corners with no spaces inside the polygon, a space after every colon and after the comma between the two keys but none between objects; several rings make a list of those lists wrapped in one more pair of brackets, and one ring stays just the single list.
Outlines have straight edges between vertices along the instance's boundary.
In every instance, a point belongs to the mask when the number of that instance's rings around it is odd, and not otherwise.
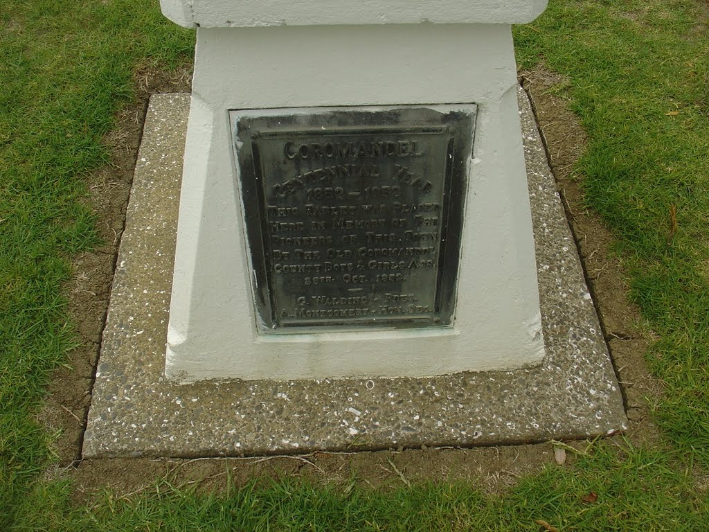
[{"label": "bare brown soil strip between the pebbled slab and the grass", "polygon": [[[659,397],[661,388],[649,375],[643,358],[651,339],[637,327],[640,316],[627,304],[622,262],[610,253],[613,237],[598,216],[584,209],[581,188],[571,174],[574,162],[584,151],[585,135],[564,99],[566,81],[547,72],[543,66],[524,72],[522,80],[532,95],[552,170],[623,387],[630,419],[627,436],[633,443],[657,445],[661,438],[649,419],[649,402]],[[513,484],[521,475],[554,465],[554,449],[549,443],[471,449],[353,450],[352,453],[313,453],[302,457],[82,460],[91,385],[147,101],[150,94],[157,92],[188,92],[189,82],[188,70],[165,74],[153,67],[141,69],[135,76],[138,88],[135,104],[118,114],[116,128],[106,138],[112,153],[111,165],[89,180],[90,201],[104,244],[94,252],[76,257],[74,278],[65,288],[70,300],[69,318],[76,323],[80,345],[70,355],[68,364],[72,369],[61,368],[55,373],[43,414],[50,429],[61,431],[55,442],[60,464],[52,474],[72,477],[76,482],[77,499],[90,497],[105,487],[118,494],[128,494],[163,477],[175,484],[199,482],[203,489],[219,488],[225,485],[228,475],[237,484],[254,476],[297,476],[342,485],[354,479],[372,487],[424,480],[469,480],[495,492]],[[586,443],[571,445],[583,448]],[[572,463],[573,456],[567,456],[566,464]]]}]

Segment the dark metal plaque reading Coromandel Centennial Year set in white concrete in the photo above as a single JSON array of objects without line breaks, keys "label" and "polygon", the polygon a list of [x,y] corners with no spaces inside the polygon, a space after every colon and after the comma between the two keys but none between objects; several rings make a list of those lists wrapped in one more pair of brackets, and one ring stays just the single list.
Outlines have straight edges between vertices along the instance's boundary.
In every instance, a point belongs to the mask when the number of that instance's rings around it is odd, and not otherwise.
[{"label": "dark metal plaque reading Coromandel Centennial Year set in white concrete", "polygon": [[259,330],[450,326],[475,115],[230,111]]}]

